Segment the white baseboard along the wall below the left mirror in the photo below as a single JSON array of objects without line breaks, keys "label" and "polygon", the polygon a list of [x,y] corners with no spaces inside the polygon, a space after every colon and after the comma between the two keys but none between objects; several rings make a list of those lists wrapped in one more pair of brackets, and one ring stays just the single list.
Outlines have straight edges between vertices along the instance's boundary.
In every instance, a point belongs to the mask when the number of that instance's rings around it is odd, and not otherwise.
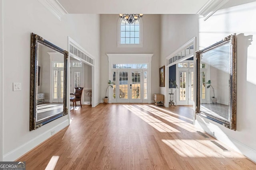
[{"label": "white baseboard along the wall below the left mirror", "polygon": [[53,127],[52,129],[49,129],[48,131],[42,133],[38,137],[24,143],[20,147],[8,152],[7,154],[4,154],[3,161],[14,161],[14,160],[18,159],[20,156],[24,155],[25,153],[32,150],[34,147],[38,146],[40,143],[44,142],[46,139],[51,137],[52,130],[54,130],[55,133],[57,133],[67,126],[68,126],[68,120],[65,120],[64,122],[58,124],[57,126]]}]

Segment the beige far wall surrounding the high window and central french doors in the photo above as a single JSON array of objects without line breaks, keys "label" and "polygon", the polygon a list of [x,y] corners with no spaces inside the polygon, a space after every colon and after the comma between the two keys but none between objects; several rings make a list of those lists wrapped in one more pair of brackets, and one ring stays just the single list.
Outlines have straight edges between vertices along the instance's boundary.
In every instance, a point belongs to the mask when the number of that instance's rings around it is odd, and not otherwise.
[{"label": "beige far wall surrounding the high window and central french doors", "polygon": [[[106,53],[154,53],[152,56],[152,71],[151,71],[151,99],[154,93],[159,93],[159,58],[160,58],[160,15],[145,14],[141,20],[143,21],[143,47],[117,47],[117,23],[118,14],[102,14],[100,16],[100,62],[101,62],[101,93],[100,96],[105,96],[106,86],[108,85],[108,57]],[[101,102],[103,100],[101,99]]]}]

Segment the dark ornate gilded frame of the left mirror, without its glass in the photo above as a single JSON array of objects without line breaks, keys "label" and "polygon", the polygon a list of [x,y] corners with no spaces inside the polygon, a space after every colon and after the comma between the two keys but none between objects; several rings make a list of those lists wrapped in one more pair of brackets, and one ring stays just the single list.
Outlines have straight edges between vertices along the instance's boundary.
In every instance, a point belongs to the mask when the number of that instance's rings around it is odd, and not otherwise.
[{"label": "dark ornate gilded frame of the left mirror, without its glass", "polygon": [[[64,55],[64,90],[63,90],[63,110],[46,117],[44,119],[36,121],[37,116],[37,90],[38,90],[38,43],[49,47],[50,49],[61,53]],[[31,34],[31,49],[30,49],[30,131],[38,129],[42,125],[49,123],[59,117],[68,114],[67,108],[67,60],[68,60],[68,51],[57,47],[56,45],[50,43],[49,41],[43,39],[37,34]]]}]

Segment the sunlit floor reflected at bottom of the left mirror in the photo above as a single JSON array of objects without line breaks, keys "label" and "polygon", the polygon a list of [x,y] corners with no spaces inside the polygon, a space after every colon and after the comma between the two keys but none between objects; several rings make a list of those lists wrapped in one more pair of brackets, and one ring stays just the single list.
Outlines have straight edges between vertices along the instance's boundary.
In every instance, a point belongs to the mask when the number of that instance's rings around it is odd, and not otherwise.
[{"label": "sunlit floor reflected at bottom of the left mirror", "polygon": [[37,109],[38,109],[37,119],[41,120],[63,111],[63,104],[62,103],[38,104]]}]

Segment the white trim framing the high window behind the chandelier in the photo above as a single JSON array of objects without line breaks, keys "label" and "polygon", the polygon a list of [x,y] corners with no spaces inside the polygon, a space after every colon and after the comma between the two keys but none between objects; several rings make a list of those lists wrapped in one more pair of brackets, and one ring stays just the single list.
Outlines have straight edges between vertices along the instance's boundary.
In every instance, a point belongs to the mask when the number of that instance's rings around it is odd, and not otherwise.
[{"label": "white trim framing the high window behind the chandelier", "polygon": [[120,43],[120,36],[121,36],[121,31],[120,31],[120,25],[122,22],[122,18],[118,19],[117,22],[117,47],[143,47],[143,21],[142,18],[138,20],[140,23],[140,43],[139,44],[121,44]]}]

